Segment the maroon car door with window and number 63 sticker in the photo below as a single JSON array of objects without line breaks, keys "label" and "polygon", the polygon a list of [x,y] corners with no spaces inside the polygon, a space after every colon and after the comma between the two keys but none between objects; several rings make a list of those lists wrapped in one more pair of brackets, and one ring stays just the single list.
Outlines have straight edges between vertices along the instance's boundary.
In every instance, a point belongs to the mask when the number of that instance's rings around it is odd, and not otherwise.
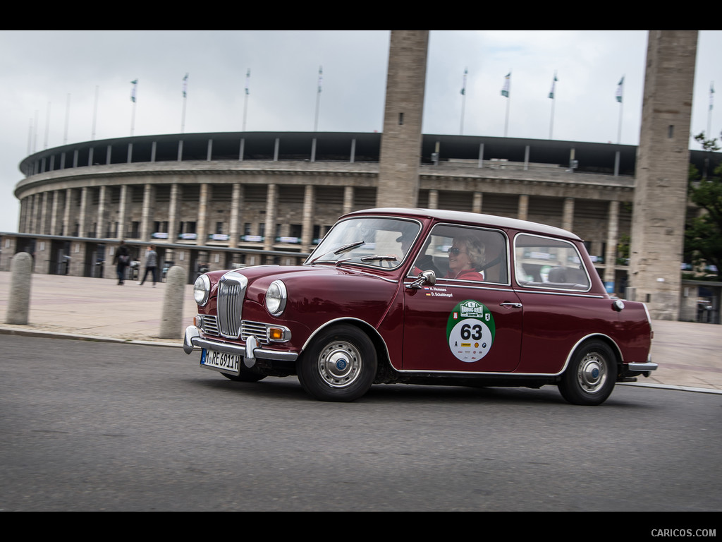
[{"label": "maroon car door with window and number 63 sticker", "polygon": [[[455,249],[459,256],[471,253],[471,268],[459,269],[450,257]],[[508,254],[502,231],[435,225],[404,281],[402,370],[516,369],[523,313],[510,285]],[[436,283],[412,288],[413,278],[429,269]]]}]

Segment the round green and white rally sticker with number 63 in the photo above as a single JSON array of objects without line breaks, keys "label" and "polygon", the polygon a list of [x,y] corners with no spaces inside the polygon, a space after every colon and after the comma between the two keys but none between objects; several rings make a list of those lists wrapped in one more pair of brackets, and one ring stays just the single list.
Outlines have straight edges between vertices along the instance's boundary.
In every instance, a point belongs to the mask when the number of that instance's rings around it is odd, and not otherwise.
[{"label": "round green and white rally sticker with number 63", "polygon": [[495,332],[491,311],[473,299],[457,304],[446,322],[449,349],[457,359],[466,363],[479,361],[489,353]]}]

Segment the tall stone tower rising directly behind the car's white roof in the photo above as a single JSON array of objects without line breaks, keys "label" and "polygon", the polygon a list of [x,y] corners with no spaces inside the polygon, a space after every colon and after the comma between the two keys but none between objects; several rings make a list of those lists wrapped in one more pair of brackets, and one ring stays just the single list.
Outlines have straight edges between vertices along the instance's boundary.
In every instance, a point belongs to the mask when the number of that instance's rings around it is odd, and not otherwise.
[{"label": "tall stone tower rising directly behind the car's white roof", "polygon": [[417,207],[428,30],[391,30],[376,205]]}]

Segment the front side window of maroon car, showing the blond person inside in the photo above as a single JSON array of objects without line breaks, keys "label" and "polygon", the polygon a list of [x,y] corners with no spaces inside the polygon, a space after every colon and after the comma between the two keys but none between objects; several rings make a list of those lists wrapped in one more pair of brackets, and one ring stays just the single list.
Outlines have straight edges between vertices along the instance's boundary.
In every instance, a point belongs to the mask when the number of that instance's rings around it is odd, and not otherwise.
[{"label": "front side window of maroon car, showing the blond person inside", "polygon": [[438,224],[410,273],[432,270],[437,278],[508,284],[507,254],[506,236],[499,231]]}]

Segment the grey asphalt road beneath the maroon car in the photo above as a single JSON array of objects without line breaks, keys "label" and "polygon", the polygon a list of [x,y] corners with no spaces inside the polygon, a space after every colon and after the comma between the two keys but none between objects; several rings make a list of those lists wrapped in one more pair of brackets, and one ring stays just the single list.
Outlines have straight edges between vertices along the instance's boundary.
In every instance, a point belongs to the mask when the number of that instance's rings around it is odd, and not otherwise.
[{"label": "grey asphalt road beneath the maroon car", "polygon": [[231,382],[180,348],[0,335],[0,510],[718,511],[722,396]]}]

